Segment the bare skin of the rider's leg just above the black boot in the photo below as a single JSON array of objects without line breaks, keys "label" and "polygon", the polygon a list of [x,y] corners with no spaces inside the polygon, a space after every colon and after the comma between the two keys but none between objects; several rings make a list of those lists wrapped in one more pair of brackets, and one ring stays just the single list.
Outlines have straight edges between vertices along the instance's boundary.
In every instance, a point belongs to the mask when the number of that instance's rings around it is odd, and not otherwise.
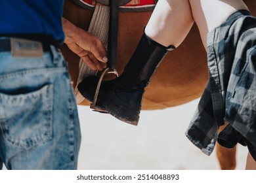
[{"label": "bare skin of the rider's leg just above the black boot", "polygon": [[145,28],[150,39],[163,46],[179,46],[194,20],[188,0],[160,0]]}]

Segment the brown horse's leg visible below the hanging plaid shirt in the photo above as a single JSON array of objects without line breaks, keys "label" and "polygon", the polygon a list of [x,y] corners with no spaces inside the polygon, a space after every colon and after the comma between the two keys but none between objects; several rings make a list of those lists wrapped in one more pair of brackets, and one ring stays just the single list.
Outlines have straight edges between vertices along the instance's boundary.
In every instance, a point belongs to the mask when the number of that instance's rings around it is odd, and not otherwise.
[{"label": "brown horse's leg visible below the hanging plaid shirt", "polygon": [[[223,130],[225,126],[221,126],[219,131]],[[236,168],[236,146],[232,149],[224,148],[217,142],[216,155],[222,170],[234,170]]]}]

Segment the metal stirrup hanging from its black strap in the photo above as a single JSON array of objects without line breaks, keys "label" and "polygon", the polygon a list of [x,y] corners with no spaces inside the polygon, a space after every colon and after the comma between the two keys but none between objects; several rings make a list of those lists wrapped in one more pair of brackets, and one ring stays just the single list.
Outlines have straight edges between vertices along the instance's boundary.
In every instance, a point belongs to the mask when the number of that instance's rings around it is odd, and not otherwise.
[{"label": "metal stirrup hanging from its black strap", "polygon": [[106,74],[115,74],[118,77],[118,73],[116,71],[118,12],[119,12],[119,7],[126,5],[131,0],[96,0],[96,1],[102,5],[106,5],[110,7],[110,24],[109,24],[109,31],[108,31],[108,60],[109,61],[108,61],[108,67],[104,69],[104,71],[100,75],[100,79],[98,80],[98,85],[95,92],[95,97],[93,99],[93,103],[91,104],[90,108],[98,112],[106,112],[104,108],[96,107],[98,92],[100,90],[102,79]]}]

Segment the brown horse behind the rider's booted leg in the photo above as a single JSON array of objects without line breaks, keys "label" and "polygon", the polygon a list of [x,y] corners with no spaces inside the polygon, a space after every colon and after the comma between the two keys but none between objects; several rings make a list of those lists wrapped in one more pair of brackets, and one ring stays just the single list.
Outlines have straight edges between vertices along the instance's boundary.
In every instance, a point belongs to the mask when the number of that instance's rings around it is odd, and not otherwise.
[{"label": "brown horse behind the rider's booted leg", "polygon": [[[255,16],[256,1],[246,0],[244,2]],[[119,12],[116,66],[119,74],[135,51],[151,14],[152,10]],[[79,7],[72,0],[66,0],[63,16],[77,27],[87,30],[93,10]],[[62,46],[62,52],[69,63],[70,75],[75,87],[79,73],[79,57],[65,44]],[[206,58],[198,29],[194,25],[181,46],[167,54],[154,74],[150,86],[146,89],[142,109],[175,107],[200,97],[208,80]],[[89,103],[84,100],[79,105],[89,105]],[[221,169],[236,167],[236,148],[230,150],[217,144],[217,157]]]}]

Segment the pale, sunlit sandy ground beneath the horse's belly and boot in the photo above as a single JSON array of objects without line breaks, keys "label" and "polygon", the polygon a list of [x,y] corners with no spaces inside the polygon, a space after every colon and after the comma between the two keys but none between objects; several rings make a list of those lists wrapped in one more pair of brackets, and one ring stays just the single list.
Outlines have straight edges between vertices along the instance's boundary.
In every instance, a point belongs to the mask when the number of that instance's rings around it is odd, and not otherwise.
[{"label": "pale, sunlit sandy ground beneath the horse's belly and boot", "polygon": [[[215,152],[203,154],[184,135],[198,101],[144,110],[138,126],[79,106],[83,139],[78,169],[219,169]],[[247,148],[238,146],[236,169],[244,169],[246,156]]]}]

